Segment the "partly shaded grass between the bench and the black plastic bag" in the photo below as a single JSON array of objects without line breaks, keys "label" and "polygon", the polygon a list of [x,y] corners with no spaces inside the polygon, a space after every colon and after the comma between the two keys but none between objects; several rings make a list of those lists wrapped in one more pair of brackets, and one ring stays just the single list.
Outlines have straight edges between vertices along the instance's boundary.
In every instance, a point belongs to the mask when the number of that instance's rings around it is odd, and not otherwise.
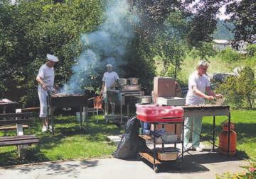
[{"label": "partly shaded grass between the bench and the black plastic bag", "polygon": [[[40,137],[40,144],[30,146],[28,156],[23,160],[18,158],[16,146],[1,147],[0,166],[110,156],[116,146],[107,141],[107,136],[122,133],[115,125],[105,125],[105,120],[102,120],[101,116],[99,123],[96,123],[95,117],[91,117],[85,129],[79,128],[74,116],[57,117],[55,122],[55,135],[52,137],[50,132],[41,132],[41,122],[36,118],[25,134],[36,134]],[[15,135],[15,132],[7,134]]]}]

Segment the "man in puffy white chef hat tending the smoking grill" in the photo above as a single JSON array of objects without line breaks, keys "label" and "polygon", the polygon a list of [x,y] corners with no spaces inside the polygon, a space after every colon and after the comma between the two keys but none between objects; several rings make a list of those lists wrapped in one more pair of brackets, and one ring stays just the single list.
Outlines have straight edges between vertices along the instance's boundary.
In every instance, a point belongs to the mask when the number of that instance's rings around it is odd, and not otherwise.
[{"label": "man in puffy white chef hat tending the smoking grill", "polygon": [[[43,64],[36,76],[36,81],[38,81],[38,96],[40,101],[40,115],[42,119],[43,128],[42,132],[46,132],[48,128],[48,119],[47,119],[47,91],[55,91],[53,88],[54,84],[54,65],[58,62],[58,58],[52,54],[47,54],[47,62]],[[50,126],[49,126],[50,128]]]}]

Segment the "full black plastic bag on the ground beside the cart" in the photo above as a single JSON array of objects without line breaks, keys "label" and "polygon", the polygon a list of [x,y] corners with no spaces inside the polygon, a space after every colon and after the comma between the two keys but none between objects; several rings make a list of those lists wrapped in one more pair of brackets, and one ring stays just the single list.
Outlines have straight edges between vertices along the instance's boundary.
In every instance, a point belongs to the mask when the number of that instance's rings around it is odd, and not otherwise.
[{"label": "full black plastic bag on the ground beside the cart", "polygon": [[147,149],[145,140],[138,136],[139,127],[137,116],[129,118],[122,139],[114,151],[115,158],[134,159],[140,150]]}]

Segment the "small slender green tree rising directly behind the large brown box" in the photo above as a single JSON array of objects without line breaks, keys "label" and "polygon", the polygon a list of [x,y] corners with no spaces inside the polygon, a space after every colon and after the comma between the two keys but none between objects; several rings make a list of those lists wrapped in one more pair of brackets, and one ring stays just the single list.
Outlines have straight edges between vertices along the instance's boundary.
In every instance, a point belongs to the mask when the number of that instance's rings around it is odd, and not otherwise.
[{"label": "small slender green tree rising directly behind the large brown box", "polygon": [[174,12],[169,15],[163,25],[163,30],[156,37],[155,49],[164,63],[164,74],[170,67],[174,66],[172,76],[177,77],[177,72],[181,67],[187,49],[186,20],[181,12]]}]

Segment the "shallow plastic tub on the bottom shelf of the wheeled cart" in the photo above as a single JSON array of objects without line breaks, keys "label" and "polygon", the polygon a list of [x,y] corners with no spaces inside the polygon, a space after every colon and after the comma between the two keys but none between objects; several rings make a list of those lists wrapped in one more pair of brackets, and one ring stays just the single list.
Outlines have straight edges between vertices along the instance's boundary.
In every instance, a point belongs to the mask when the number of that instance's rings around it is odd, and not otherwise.
[{"label": "shallow plastic tub on the bottom shelf of the wheeled cart", "polygon": [[175,161],[178,158],[178,149],[161,149],[157,154],[161,161]]}]

